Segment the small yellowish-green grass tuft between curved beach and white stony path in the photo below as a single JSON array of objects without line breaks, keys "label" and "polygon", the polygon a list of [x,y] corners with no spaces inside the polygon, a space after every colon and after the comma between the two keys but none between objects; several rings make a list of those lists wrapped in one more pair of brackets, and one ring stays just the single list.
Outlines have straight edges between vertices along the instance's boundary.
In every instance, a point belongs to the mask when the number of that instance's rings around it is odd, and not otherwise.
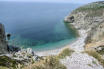
[{"label": "small yellowish-green grass tuft between curved beach and white stony path", "polygon": [[69,49],[69,48],[65,48],[63,49],[59,54],[58,54],[58,58],[63,59],[66,56],[71,56],[71,54],[74,52],[74,50]]}]

